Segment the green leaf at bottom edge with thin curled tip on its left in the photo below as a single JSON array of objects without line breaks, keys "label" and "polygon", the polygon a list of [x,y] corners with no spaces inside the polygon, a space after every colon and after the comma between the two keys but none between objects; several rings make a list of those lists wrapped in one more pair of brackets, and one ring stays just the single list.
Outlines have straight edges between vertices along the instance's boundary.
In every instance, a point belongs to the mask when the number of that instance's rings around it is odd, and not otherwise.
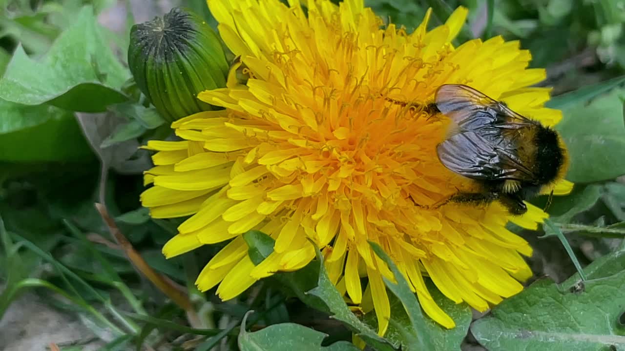
[{"label": "green leaf at bottom edge with thin curled tip on its left", "polygon": [[294,323],[269,325],[257,332],[248,333],[245,330],[247,312],[241,322],[239,332],[239,349],[241,351],[292,351],[292,350],[319,350],[319,351],[358,351],[354,344],[346,341],[336,342],[322,347],[321,342],[327,336],[317,330]]}]

